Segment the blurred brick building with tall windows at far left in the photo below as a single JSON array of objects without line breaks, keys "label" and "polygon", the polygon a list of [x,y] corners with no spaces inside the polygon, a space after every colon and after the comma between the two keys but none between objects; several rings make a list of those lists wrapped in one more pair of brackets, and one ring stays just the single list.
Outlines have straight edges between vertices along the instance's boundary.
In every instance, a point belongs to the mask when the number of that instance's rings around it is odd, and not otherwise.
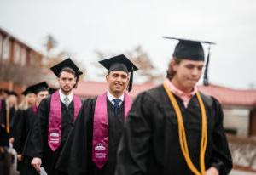
[{"label": "blurred brick building with tall windows at far left", "polygon": [[19,71],[26,71],[28,67],[39,67],[42,65],[43,58],[43,54],[0,28],[0,88],[15,90],[17,93],[22,92],[27,84],[15,82],[15,78],[22,79],[22,76],[7,76],[7,71],[11,74],[11,71],[17,70],[19,74]]}]

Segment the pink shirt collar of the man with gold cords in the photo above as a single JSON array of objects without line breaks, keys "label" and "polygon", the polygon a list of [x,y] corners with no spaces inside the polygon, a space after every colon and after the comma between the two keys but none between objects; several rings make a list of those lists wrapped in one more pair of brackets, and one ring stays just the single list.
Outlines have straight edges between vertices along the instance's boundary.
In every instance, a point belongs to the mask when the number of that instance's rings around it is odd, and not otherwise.
[{"label": "pink shirt collar of the man with gold cords", "polygon": [[176,88],[172,82],[166,78],[166,84],[168,86],[168,88],[170,89],[170,91],[172,93],[174,93],[175,95],[177,95],[177,97],[179,97],[180,99],[183,100],[183,104],[185,105],[185,107],[188,107],[189,104],[189,100],[195,95],[195,93],[197,92],[197,87],[195,86],[193,91],[191,93],[185,93],[182,90]]}]

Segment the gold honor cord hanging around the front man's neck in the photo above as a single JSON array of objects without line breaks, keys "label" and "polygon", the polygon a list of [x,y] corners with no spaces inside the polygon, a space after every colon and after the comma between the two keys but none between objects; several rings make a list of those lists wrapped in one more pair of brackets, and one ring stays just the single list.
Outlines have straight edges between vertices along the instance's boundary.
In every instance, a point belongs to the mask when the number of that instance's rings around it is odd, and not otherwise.
[{"label": "gold honor cord hanging around the front man's neck", "polygon": [[199,92],[196,93],[196,97],[199,101],[200,108],[201,108],[201,148],[200,148],[200,167],[201,172],[199,172],[193,162],[191,161],[190,155],[189,155],[189,149],[187,144],[187,138],[185,133],[185,128],[183,124],[183,116],[181,113],[181,110],[179,109],[179,106],[177,104],[177,100],[174,98],[170,90],[168,89],[166,82],[164,82],[164,88],[166,90],[166,93],[168,94],[168,97],[172,103],[172,106],[175,110],[176,116],[177,116],[177,126],[178,126],[178,138],[179,138],[179,144],[181,147],[181,150],[183,152],[183,156],[185,158],[185,161],[187,162],[187,165],[189,169],[195,173],[195,175],[205,175],[205,152],[207,149],[207,114],[205,106],[201,100],[201,96]]}]

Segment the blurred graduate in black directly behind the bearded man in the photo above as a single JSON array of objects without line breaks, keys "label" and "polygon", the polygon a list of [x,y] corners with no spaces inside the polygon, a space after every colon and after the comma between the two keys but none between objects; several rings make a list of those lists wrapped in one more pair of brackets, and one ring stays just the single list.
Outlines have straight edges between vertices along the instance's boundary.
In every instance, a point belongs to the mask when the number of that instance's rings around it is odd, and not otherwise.
[{"label": "blurred graduate in black directly behind the bearded man", "polygon": [[19,116],[17,116],[19,120],[16,120],[13,128],[13,135],[15,137],[14,147],[18,154],[18,169],[20,171],[20,175],[38,174],[38,172],[36,172],[36,170],[30,164],[32,161],[32,157],[29,156],[30,149],[25,149],[25,147],[34,121],[36,121],[38,117],[38,106],[42,99],[48,97],[48,85],[46,82],[39,82],[28,87],[26,91],[23,92],[23,94],[28,93],[36,94],[36,104],[26,110],[20,111]]}]

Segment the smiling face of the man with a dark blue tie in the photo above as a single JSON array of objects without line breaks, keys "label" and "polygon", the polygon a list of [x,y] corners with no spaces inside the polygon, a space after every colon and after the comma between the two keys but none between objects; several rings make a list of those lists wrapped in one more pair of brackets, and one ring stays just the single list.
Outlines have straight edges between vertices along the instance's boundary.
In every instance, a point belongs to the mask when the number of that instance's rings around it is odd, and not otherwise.
[{"label": "smiling face of the man with a dark blue tie", "polygon": [[106,76],[110,93],[121,95],[129,82],[128,74],[125,71],[110,71]]}]

